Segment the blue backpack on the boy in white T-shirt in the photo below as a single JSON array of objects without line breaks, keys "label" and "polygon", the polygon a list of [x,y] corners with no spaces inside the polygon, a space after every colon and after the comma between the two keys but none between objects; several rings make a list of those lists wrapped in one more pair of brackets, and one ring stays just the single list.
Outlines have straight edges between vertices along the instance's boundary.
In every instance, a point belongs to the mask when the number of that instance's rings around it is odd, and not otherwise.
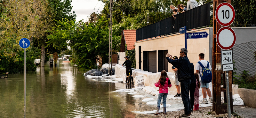
[{"label": "blue backpack on the boy in white T-shirt", "polygon": [[197,63],[203,68],[202,76],[201,76],[200,71],[199,71],[201,81],[204,82],[204,83],[210,83],[212,81],[212,72],[209,69],[209,62],[207,62],[206,67],[204,67],[204,65],[200,61],[197,62]]}]

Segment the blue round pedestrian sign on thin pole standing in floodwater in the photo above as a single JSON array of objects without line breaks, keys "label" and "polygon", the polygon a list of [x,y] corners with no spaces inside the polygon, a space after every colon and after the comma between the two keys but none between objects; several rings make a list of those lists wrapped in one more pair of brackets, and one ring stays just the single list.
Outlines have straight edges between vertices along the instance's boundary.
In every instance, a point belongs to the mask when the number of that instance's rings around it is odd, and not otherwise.
[{"label": "blue round pedestrian sign on thin pole standing in floodwater", "polygon": [[19,45],[24,49],[24,117],[26,111],[26,48],[30,46],[30,41],[27,38],[22,38]]}]

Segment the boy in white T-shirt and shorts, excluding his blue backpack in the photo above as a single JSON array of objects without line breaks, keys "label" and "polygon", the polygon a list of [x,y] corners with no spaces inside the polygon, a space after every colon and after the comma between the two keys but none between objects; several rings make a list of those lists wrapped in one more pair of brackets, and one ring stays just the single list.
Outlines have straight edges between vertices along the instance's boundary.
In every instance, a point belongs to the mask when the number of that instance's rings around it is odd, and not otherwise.
[{"label": "boy in white T-shirt and shorts, excluding his blue backpack", "polygon": [[[199,56],[199,60],[200,60],[199,62],[202,63],[204,67],[206,67],[207,63],[209,63],[209,62],[204,60],[204,53],[200,53],[198,56]],[[204,83],[201,80],[201,76],[202,76],[202,73],[203,73],[203,68],[200,66],[199,63],[196,63],[195,69],[196,69],[196,73],[198,73],[198,75],[199,75],[198,77],[199,77],[199,81],[200,81],[200,84],[201,84],[200,87],[202,88],[203,99],[204,99],[200,103],[208,104],[208,101],[206,99],[206,93],[209,96],[209,101],[212,103],[212,93],[209,89],[209,83]],[[212,70],[212,67],[211,67],[210,64],[209,64],[209,69]]]}]

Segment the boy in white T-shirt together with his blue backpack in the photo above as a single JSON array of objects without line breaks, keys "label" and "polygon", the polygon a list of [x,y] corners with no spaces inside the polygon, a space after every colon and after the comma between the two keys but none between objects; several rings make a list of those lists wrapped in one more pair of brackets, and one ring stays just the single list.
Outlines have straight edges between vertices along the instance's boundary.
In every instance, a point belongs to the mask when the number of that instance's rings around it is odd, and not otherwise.
[{"label": "boy in white T-shirt together with his blue backpack", "polygon": [[209,96],[209,102],[212,103],[212,93],[209,89],[209,83],[212,81],[212,67],[208,61],[204,60],[204,53],[200,53],[199,62],[196,63],[196,73],[198,73],[199,81],[201,83],[202,93],[203,93],[203,101],[200,103],[208,104],[206,99],[206,93]]}]

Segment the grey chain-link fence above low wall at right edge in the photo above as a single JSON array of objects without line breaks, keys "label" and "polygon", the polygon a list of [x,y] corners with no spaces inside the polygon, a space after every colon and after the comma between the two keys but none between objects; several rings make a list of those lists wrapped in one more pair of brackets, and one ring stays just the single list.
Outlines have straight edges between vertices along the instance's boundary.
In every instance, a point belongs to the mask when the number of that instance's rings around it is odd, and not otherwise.
[{"label": "grey chain-link fence above low wall at right edge", "polygon": [[233,47],[233,84],[239,88],[256,89],[256,41]]}]

